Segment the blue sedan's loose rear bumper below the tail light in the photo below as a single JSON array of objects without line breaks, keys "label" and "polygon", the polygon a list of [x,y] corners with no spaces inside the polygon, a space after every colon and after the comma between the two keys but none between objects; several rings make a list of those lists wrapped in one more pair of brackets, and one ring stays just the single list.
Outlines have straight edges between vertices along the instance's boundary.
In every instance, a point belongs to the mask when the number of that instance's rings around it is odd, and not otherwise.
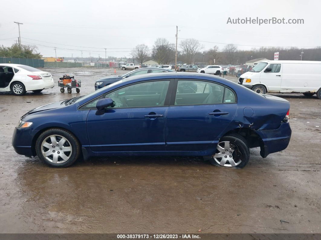
[{"label": "blue sedan's loose rear bumper below the tail light", "polygon": [[256,130],[261,138],[260,155],[265,158],[270,153],[280,152],[286,149],[291,139],[290,123],[281,123],[278,129],[272,130]]}]

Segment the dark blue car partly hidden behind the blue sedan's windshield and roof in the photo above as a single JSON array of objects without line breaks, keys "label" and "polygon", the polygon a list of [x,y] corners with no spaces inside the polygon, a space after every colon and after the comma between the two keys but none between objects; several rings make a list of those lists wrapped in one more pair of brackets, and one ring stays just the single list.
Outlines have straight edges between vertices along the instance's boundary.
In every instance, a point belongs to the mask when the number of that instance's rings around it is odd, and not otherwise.
[{"label": "dark blue car partly hidden behind the blue sedan's windshield and roof", "polygon": [[135,69],[132,70],[128,73],[125,73],[124,75],[119,75],[119,76],[111,76],[108,78],[103,78],[99,79],[95,82],[95,90],[98,90],[102,87],[105,87],[111,83],[117,82],[121,79],[125,79],[131,76],[136,76],[136,75],[141,75],[141,74],[146,74],[146,73],[156,73],[156,72],[174,72],[173,70],[170,69],[159,69],[159,68],[145,68],[144,69]]}]

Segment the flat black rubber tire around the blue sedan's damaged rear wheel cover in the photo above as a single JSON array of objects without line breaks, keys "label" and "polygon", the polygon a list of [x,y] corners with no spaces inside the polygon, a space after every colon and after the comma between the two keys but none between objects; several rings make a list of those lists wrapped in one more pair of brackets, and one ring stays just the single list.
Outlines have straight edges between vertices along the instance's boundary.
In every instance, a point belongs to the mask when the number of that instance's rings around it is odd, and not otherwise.
[{"label": "flat black rubber tire around the blue sedan's damaged rear wheel cover", "polygon": [[[238,165],[236,165],[235,167],[228,167],[228,168],[244,168],[245,165],[247,164],[248,160],[250,159],[250,149],[247,145],[247,141],[245,140],[244,137],[242,137],[239,134],[236,133],[231,133],[229,135],[226,135],[224,137],[222,137],[219,141],[219,144],[221,142],[230,142],[230,146],[231,148],[234,149],[234,152],[231,153],[233,156],[233,160],[238,163],[240,161],[240,163]],[[217,150],[218,152],[218,150]],[[222,158],[221,158],[222,159]],[[213,157],[211,157],[210,162],[212,165],[215,166],[221,166],[217,161],[215,161],[215,159]]]}]

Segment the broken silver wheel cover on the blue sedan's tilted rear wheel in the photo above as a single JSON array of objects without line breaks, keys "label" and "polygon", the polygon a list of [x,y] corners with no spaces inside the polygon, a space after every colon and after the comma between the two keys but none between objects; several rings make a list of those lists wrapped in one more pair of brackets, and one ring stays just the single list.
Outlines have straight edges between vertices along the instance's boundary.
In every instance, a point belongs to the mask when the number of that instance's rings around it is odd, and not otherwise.
[{"label": "broken silver wheel cover on the blue sedan's tilted rear wheel", "polygon": [[242,160],[242,154],[235,143],[223,141],[218,143],[213,159],[224,167],[236,167]]}]

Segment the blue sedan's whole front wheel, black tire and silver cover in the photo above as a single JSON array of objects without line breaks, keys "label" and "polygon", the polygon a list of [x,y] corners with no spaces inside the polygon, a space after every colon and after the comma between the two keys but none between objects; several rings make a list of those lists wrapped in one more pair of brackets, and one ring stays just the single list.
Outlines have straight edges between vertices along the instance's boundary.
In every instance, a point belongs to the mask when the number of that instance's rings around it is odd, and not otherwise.
[{"label": "blue sedan's whole front wheel, black tire and silver cover", "polygon": [[80,144],[70,132],[60,128],[50,128],[38,137],[36,153],[43,163],[51,167],[64,168],[77,160]]}]

